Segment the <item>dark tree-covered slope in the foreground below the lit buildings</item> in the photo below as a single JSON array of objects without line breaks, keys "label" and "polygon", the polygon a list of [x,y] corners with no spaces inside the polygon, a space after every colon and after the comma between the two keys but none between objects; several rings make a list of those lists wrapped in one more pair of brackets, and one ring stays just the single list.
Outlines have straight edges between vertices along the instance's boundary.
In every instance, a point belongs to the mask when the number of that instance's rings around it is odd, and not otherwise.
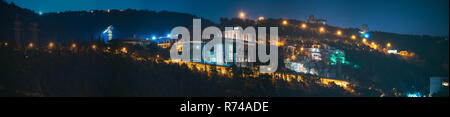
[{"label": "dark tree-covered slope in the foreground below the lit buildings", "polygon": [[266,76],[208,77],[186,66],[140,62],[121,54],[0,51],[0,96],[356,96],[314,79],[302,84]]}]

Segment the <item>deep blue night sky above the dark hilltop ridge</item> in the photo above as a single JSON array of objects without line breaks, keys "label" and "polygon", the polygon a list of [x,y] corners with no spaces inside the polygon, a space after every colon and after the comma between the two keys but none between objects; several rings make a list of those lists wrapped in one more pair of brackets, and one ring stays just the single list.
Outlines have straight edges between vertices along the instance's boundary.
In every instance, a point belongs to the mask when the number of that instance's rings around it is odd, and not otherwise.
[{"label": "deep blue night sky above the dark hilltop ridge", "polygon": [[149,9],[190,13],[218,22],[239,11],[251,19],[306,20],[309,14],[329,25],[401,34],[448,36],[449,0],[6,0],[36,12],[89,9]]}]

